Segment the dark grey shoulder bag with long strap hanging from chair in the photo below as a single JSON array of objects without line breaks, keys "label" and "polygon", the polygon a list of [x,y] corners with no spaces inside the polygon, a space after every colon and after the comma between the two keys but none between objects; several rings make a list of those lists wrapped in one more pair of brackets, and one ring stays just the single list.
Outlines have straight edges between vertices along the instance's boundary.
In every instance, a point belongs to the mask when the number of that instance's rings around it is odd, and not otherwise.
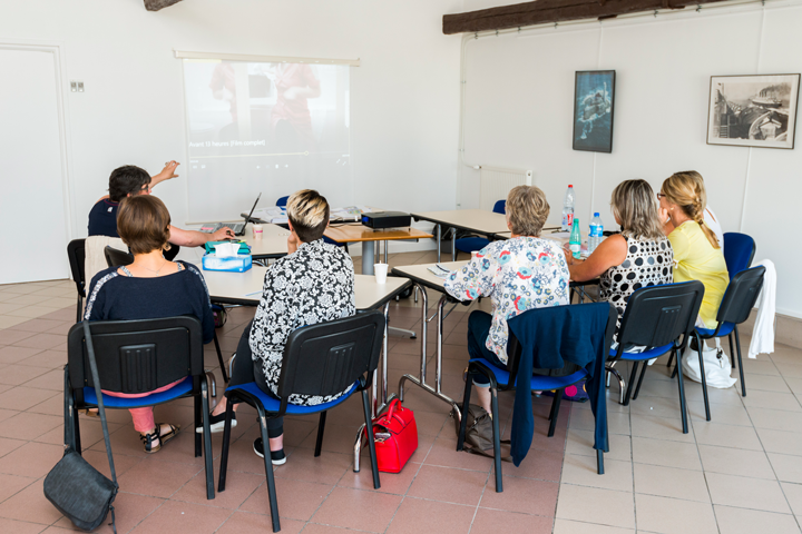
[{"label": "dark grey shoulder bag with long strap hanging from chair", "polygon": [[86,320],[84,322],[84,335],[87,352],[89,353],[92,382],[95,382],[95,394],[98,399],[104,439],[106,441],[106,454],[111,467],[111,479],[109,481],[89,465],[75,449],[75,427],[71,423],[72,417],[78,417],[78,414],[68,413],[68,411],[74,411],[75,407],[68,402],[69,378],[65,374],[65,455],[45,478],[45,496],[59,512],[69,517],[78,528],[85,531],[98,527],[106,521],[108,513],[111,512],[111,527],[117,534],[111,503],[117,496],[119,485],[117,484],[117,474],[111,457],[111,442],[108,425],[106,424],[106,411],[104,409],[102,394],[100,393],[100,378],[95,362],[95,348],[92,347],[89,323]]}]

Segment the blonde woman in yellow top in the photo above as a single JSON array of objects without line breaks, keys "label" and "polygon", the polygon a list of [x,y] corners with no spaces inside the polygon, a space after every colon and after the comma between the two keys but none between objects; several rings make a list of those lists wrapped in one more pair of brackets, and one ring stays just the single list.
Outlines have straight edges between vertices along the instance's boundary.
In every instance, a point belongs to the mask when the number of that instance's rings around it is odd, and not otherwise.
[{"label": "blonde woman in yellow top", "polygon": [[697,175],[695,171],[676,172],[663,182],[657,196],[663,231],[674,249],[674,281],[700,280],[704,284],[700,319],[706,328],[715,328],[730,275],[718,240],[704,222],[707,194]]}]

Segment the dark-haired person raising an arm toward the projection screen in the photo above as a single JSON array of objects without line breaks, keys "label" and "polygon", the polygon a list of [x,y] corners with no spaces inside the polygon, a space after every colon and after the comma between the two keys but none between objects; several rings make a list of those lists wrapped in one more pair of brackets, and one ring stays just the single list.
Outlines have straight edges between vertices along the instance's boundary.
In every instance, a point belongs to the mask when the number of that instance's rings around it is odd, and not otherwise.
[{"label": "dark-haired person raising an arm toward the projection screen", "polygon": [[[89,236],[121,237],[117,231],[117,210],[120,200],[138,195],[150,195],[157,184],[178,176],[175,174],[178,165],[177,161],[170,161],[162,169],[162,172],[154,177],[134,165],[126,165],[113,170],[109,176],[109,194],[98,200],[89,211]],[[231,228],[221,228],[214,234],[204,234],[170,226],[167,233],[167,240],[182,247],[200,247],[206,241],[219,241],[231,237],[234,237]],[[178,247],[174,247],[173,251],[167,253],[166,256],[168,259],[173,259],[177,253]]]}]

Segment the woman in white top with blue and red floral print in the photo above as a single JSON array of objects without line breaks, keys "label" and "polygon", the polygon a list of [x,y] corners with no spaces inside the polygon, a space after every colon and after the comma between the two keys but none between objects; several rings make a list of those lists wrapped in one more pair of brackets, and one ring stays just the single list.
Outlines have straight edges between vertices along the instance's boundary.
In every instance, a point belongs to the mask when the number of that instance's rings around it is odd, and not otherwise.
[{"label": "woman in white top with blue and red floral print", "polygon": [[[532,308],[568,304],[568,266],[557,241],[541,239],[549,214],[546,195],[534,186],[518,186],[507,197],[510,239],[479,250],[446,280],[459,300],[490,297],[492,315],[475,310],[468,318],[468,354],[506,367],[507,319]],[[481,406],[490,413],[490,390],[483,376],[473,378]]]}]

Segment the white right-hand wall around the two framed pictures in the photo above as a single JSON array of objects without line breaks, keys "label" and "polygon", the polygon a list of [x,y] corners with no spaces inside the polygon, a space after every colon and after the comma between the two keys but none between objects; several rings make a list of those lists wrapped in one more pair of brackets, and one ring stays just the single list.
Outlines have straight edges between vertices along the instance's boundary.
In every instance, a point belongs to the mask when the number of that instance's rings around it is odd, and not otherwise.
[{"label": "white right-hand wall around the two framed pictures", "polygon": [[[724,231],[752,235],[755,259],[776,264],[777,310],[802,317],[795,276],[802,248],[792,245],[802,199],[802,132],[794,150],[705,142],[712,75],[802,71],[802,6],[779,3],[466,40],[466,162],[532,169],[555,220],[573,182],[581,224],[593,206],[607,226],[614,222],[609,195],[619,181],[645,178],[658,188],[675,171],[698,170]],[[491,6],[466,0],[469,9]],[[616,71],[609,155],[571,149],[574,72],[594,69]],[[473,207],[478,172],[460,172],[462,207]]]}]

